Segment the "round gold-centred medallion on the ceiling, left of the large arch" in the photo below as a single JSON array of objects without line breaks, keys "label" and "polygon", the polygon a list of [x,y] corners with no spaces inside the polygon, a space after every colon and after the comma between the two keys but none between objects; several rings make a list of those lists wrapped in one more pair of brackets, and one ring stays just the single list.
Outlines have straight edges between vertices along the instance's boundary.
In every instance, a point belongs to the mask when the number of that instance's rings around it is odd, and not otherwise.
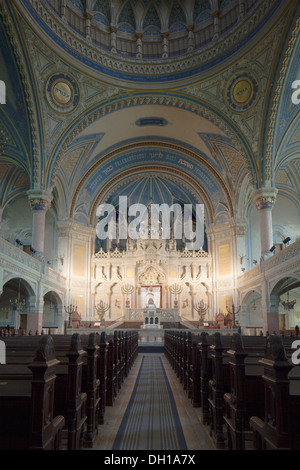
[{"label": "round gold-centred medallion on the ceiling, left of the large arch", "polygon": [[46,96],[49,105],[60,113],[69,113],[76,108],[79,99],[75,80],[64,73],[56,73],[46,83]]}]

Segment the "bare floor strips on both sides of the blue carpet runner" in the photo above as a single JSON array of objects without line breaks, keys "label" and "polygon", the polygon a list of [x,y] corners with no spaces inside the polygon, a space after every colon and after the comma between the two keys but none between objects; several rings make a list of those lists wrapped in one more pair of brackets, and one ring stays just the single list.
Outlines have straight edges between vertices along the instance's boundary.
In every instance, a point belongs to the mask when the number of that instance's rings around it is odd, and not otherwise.
[{"label": "bare floor strips on both sides of the blue carpet runner", "polygon": [[[116,434],[121,424],[123,415],[130,400],[138,371],[140,369],[142,354],[139,354],[129,376],[122,384],[121,393],[118,394],[112,407],[105,410],[105,423],[98,428],[98,436],[92,450],[111,450]],[[193,408],[182,384],[163,354],[162,358],[165,371],[175,398],[179,418],[189,450],[214,450],[212,441],[208,435],[208,428],[201,424],[199,408]],[[178,449],[180,450],[180,449]]]}]

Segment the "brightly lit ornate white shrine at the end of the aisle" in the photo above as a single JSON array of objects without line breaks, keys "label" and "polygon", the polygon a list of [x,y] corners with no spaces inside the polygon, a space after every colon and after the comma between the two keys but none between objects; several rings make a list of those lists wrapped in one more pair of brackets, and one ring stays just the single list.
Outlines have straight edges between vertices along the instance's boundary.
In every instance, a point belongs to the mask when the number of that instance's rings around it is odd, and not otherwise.
[{"label": "brightly lit ornate white shrine at the end of the aisle", "polygon": [[110,305],[106,320],[144,322],[149,298],[160,321],[198,320],[193,306],[200,300],[211,314],[211,257],[202,249],[179,251],[175,240],[128,239],[123,251],[96,253],[92,271],[95,305]]}]

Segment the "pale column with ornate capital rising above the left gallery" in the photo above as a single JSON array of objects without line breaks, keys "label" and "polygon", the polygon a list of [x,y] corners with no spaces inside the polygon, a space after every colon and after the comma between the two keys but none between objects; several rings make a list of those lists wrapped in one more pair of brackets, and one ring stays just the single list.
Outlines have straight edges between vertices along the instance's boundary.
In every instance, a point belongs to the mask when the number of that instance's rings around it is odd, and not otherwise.
[{"label": "pale column with ornate capital rising above the left gallery", "polygon": [[27,192],[32,218],[32,248],[38,253],[44,252],[45,218],[51,206],[52,196],[47,191],[29,190]]}]

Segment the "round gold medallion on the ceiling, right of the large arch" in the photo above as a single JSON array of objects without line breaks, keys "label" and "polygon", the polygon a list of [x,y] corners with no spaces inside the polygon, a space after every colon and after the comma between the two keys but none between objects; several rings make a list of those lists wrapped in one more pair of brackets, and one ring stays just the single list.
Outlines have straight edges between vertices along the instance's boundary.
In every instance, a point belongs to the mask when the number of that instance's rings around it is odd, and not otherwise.
[{"label": "round gold medallion on the ceiling, right of the large arch", "polygon": [[257,100],[259,85],[256,77],[242,71],[231,77],[225,88],[227,104],[237,112],[251,108]]}]

